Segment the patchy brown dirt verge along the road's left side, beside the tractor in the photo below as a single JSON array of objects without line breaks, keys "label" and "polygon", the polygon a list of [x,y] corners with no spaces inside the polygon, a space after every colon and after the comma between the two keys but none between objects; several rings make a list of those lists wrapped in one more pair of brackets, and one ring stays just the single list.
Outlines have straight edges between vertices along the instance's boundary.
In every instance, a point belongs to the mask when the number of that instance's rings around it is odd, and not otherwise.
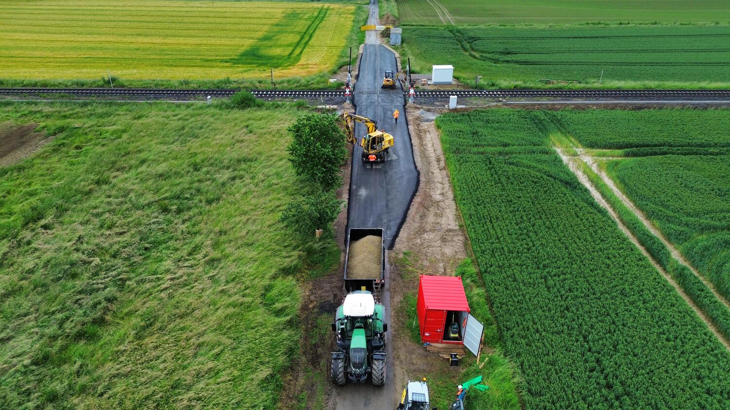
[{"label": "patchy brown dirt verge along the road's left side, beside the tractor", "polygon": [[[350,193],[352,147],[348,149],[347,163],[342,166],[342,187],[337,190],[340,200],[347,200]],[[323,277],[302,280],[299,318],[303,337],[299,354],[293,360],[290,371],[283,376],[284,387],[278,409],[334,409],[333,385],[328,375],[334,336],[321,318],[328,316],[328,321],[334,320],[334,312],[345,297],[342,276],[346,226],[347,207],[334,222],[334,237],[341,251],[337,268]]]}]

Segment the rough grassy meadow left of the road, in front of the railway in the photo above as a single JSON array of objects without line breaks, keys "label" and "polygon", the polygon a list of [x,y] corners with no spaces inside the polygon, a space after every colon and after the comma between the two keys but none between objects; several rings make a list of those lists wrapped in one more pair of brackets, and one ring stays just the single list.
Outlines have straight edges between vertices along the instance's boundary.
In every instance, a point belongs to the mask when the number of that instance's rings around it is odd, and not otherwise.
[{"label": "rough grassy meadow left of the road, in front of the railway", "polygon": [[[273,409],[307,257],[293,108],[2,103],[0,408]],[[307,265],[309,266],[309,265]]]}]

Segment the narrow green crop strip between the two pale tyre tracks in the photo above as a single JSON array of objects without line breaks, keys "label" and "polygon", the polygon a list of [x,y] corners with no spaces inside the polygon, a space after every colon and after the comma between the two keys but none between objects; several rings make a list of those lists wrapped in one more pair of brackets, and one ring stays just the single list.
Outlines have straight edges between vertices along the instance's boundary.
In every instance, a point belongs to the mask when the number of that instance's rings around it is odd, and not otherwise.
[{"label": "narrow green crop strip between the two pale tyre tracks", "polygon": [[669,273],[677,281],[677,284],[684,289],[687,296],[715,324],[718,331],[730,339],[730,310],[712,294],[712,291],[688,267],[679,264],[672,257],[672,253],[669,252],[669,249],[666,248],[664,243],[647,229],[644,223],[623,204],[621,199],[614,194],[602,178],[593,172],[591,167],[586,165],[585,162],[581,162],[581,164],[583,165],[583,172],[591,180],[591,184],[596,186],[601,196],[615,210],[621,222],[637,237],[639,243],[664,268],[664,271]]}]

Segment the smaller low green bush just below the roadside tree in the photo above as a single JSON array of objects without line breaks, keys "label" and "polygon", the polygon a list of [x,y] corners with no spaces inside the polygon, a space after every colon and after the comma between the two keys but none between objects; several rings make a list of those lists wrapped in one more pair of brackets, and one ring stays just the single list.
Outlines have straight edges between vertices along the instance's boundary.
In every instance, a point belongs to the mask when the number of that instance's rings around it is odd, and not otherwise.
[{"label": "smaller low green bush just below the roadside tree", "polygon": [[315,229],[330,234],[332,222],[344,205],[345,201],[338,200],[334,191],[318,190],[287,205],[281,221],[303,236],[314,234]]}]

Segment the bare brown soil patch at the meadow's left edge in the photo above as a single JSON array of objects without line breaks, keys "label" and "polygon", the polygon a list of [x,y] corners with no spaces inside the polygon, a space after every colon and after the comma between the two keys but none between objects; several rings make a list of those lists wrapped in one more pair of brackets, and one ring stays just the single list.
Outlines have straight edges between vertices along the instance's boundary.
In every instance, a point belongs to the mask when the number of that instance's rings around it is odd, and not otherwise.
[{"label": "bare brown soil patch at the meadow's left edge", "polygon": [[34,133],[37,127],[37,124],[0,124],[0,167],[7,167],[20,159],[30,157],[53,139],[46,137],[44,133]]}]

